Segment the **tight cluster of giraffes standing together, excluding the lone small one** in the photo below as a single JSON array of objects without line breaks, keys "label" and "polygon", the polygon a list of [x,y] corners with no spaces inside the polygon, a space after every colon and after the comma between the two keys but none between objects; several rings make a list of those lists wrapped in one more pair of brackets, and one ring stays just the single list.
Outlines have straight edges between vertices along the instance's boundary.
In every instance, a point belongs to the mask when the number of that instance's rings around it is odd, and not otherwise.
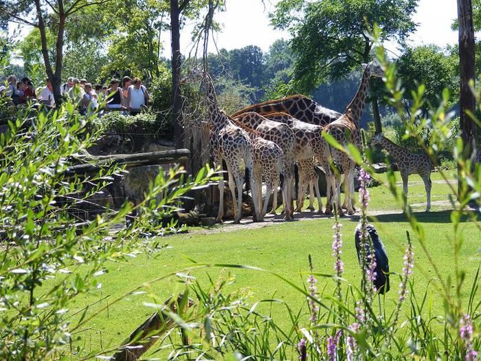
[{"label": "tight cluster of giraffes standing together, excluding the lone small one", "polygon": [[[302,210],[304,193],[308,186],[311,194],[309,208],[314,210],[315,190],[318,211],[322,212],[318,176],[314,171],[316,164],[320,165],[326,173],[327,201],[324,214],[332,214],[333,204],[337,206],[339,215],[344,215],[343,207],[346,208],[349,215],[355,213],[353,206],[355,162],[346,153],[329,146],[322,133],[328,133],[339,144],[352,143],[359,148],[361,145],[360,120],[371,76],[383,76],[381,67],[374,62],[363,65],[359,89],[342,114],[321,107],[305,96],[295,95],[252,105],[236,111],[231,116],[227,116],[219,109],[214,83],[208,72],[196,69],[188,76],[187,80],[201,80],[204,83],[205,95],[208,100],[208,121],[212,129],[210,154],[215,166],[222,166],[223,160],[227,165],[228,184],[234,201],[234,223],[240,222],[242,217],[241,201],[244,183],[242,164],[245,167],[245,182],[251,188],[255,221],[262,221],[267,213],[267,204],[271,193],[274,193],[271,213],[276,213],[279,182],[282,188],[284,219],[291,219],[295,211]],[[381,145],[384,144],[379,137],[375,140]],[[294,164],[296,163],[298,164],[299,182],[296,197],[297,207],[294,209],[293,185]],[[333,164],[342,168],[344,173],[345,199],[343,205],[340,202],[341,177],[339,173],[333,171]],[[407,182],[407,175],[413,171],[416,170],[409,168],[405,172],[401,171],[403,182],[405,179]],[[429,176],[427,179],[429,180]],[[263,205],[262,181],[265,182],[267,188]],[[429,180],[429,189],[430,184]],[[237,197],[235,188],[237,188]],[[224,193],[222,174],[219,181],[219,193],[217,221],[221,222]],[[405,193],[407,193],[407,189],[405,189]]]}]

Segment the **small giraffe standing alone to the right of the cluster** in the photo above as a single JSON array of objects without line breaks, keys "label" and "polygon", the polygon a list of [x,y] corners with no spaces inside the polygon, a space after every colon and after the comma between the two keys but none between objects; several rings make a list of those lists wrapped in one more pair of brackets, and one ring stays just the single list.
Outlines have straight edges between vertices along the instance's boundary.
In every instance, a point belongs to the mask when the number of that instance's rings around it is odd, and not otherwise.
[{"label": "small giraffe standing alone to the right of the cluster", "polygon": [[403,179],[403,191],[404,196],[407,198],[407,178],[411,174],[418,174],[423,179],[424,187],[426,190],[427,206],[426,212],[429,212],[431,208],[431,170],[432,162],[429,156],[425,153],[412,153],[403,146],[400,146],[394,142],[385,138],[383,133],[374,135],[374,138],[370,141],[370,146],[379,144],[383,149],[396,160],[397,167],[401,173]]}]

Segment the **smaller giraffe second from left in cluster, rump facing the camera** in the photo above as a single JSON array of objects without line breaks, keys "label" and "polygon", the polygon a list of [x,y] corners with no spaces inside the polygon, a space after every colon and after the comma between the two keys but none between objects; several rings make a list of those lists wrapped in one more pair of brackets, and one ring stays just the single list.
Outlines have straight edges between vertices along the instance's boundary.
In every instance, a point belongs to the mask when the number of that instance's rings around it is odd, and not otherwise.
[{"label": "smaller giraffe second from left in cluster, rump facing the camera", "polygon": [[[285,160],[284,151],[276,144],[270,140],[264,139],[260,136],[258,131],[253,131],[249,129],[244,124],[238,122],[237,120],[232,120],[234,124],[238,124],[241,128],[245,129],[251,138],[252,151],[254,154],[254,167],[252,171],[252,177],[254,178],[254,184],[256,184],[258,192],[258,204],[259,209],[262,208],[260,215],[258,216],[258,221],[262,221],[267,212],[267,205],[269,204],[269,199],[271,193],[274,190],[272,209],[277,208],[277,188],[279,184],[280,177],[284,177],[288,173],[288,164]],[[262,206],[262,179],[265,180],[266,184],[266,195],[264,206]],[[282,199],[289,199],[287,195],[287,186],[282,184]],[[284,212],[284,219],[291,219],[291,206],[289,202],[284,204],[286,212]]]}]

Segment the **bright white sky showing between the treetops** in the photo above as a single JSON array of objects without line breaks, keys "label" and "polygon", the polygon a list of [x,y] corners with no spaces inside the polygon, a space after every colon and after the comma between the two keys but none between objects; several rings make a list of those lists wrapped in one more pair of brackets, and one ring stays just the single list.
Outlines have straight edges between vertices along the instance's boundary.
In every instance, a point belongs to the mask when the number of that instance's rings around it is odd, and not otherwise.
[{"label": "bright white sky showing between the treetops", "polygon": [[[214,40],[219,49],[232,50],[246,45],[257,45],[266,52],[269,45],[277,39],[289,39],[289,33],[274,30],[269,25],[269,12],[275,9],[279,0],[227,0],[227,10],[216,14],[216,21],[223,26],[222,32],[215,34]],[[443,47],[458,41],[458,35],[451,30],[451,24],[457,17],[456,0],[419,0],[414,21],[418,28],[410,37],[412,45],[434,43]],[[14,26],[10,26],[12,32]],[[190,32],[192,24],[187,23],[181,32],[181,51],[188,55],[192,49]],[[23,30],[23,34],[27,32]],[[164,43],[163,56],[170,58],[170,34],[161,36]],[[396,45],[385,44],[395,54]],[[216,52],[213,41],[210,41],[210,52]]]}]

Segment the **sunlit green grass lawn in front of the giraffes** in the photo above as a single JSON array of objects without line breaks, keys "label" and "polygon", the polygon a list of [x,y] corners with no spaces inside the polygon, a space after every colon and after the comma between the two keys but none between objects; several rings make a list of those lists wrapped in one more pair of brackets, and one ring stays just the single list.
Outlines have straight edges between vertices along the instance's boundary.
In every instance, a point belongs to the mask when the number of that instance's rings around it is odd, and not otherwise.
[{"label": "sunlit green grass lawn in front of the giraffes", "polygon": [[[398,175],[399,177],[399,175]],[[383,178],[383,175],[379,175]],[[433,174],[433,181],[439,181],[437,173]],[[425,193],[423,184],[417,176],[410,177],[412,186],[410,187],[409,203],[423,203],[422,206],[415,206],[414,210],[425,208]],[[399,185],[402,188],[402,185]],[[410,226],[405,221],[401,212],[396,210],[396,204],[392,201],[389,190],[383,186],[370,188],[371,208],[374,210],[394,210],[384,215],[378,215],[374,224],[381,235],[390,257],[390,267],[392,272],[401,272],[403,266],[403,252],[406,247],[405,230],[410,230]],[[432,201],[446,201],[449,194],[446,184],[434,182],[432,190]],[[323,199],[324,201],[324,199]],[[419,212],[416,214],[425,229],[428,252],[436,261],[443,277],[447,278],[454,274],[453,267],[453,248],[450,243],[451,224],[449,211],[445,210],[446,205],[433,205],[433,211],[429,213]],[[297,216],[300,218],[301,216]],[[344,269],[345,278],[353,285],[359,285],[360,269],[357,263],[355,252],[353,231],[357,225],[356,219],[343,219],[342,232],[344,235]],[[142,254],[128,264],[110,263],[109,273],[102,277],[102,288],[85,298],[76,300],[74,312],[85,305],[91,305],[91,311],[99,309],[111,303],[113,299],[133,289],[137,285],[142,285],[146,281],[153,280],[175,270],[183,270],[190,261],[184,257],[188,256],[199,263],[232,263],[242,265],[254,265],[267,270],[277,272],[289,278],[298,285],[305,283],[308,270],[307,259],[311,254],[316,272],[333,273],[333,258],[331,256],[331,243],[333,240],[332,230],[333,219],[321,217],[308,221],[289,221],[278,222],[275,225],[264,228],[236,230],[234,232],[195,232],[180,234],[163,239],[168,248],[161,250],[156,256]],[[223,226],[228,228],[228,226]],[[462,269],[467,272],[466,285],[463,289],[463,297],[469,296],[468,292],[476,275],[476,270],[480,265],[481,255],[479,231],[472,222],[465,222],[461,227],[463,236],[463,246],[460,252],[460,264]],[[421,246],[414,239],[414,252],[416,266],[414,269],[415,289],[419,294],[425,292],[429,302],[432,303],[433,314],[443,314],[443,305],[436,289],[428,286],[436,276],[432,266],[427,263],[427,257],[421,250]],[[207,285],[208,276],[216,278],[219,274],[232,272],[236,276],[235,288],[248,288],[254,293],[254,300],[271,298],[275,296],[287,301],[293,309],[304,307],[305,300],[302,295],[283,283],[275,276],[251,270],[210,268],[207,270],[196,270],[191,272],[199,281]],[[319,288],[326,287],[326,293],[331,294],[333,281],[320,279]],[[397,286],[399,279],[392,276],[392,290],[385,297],[385,307],[390,311],[397,299]],[[48,283],[47,286],[48,287]],[[160,298],[168,298],[171,294],[181,292],[184,285],[177,278],[170,278],[167,281],[156,283],[152,287],[146,287],[147,291],[153,292]],[[453,289],[454,292],[454,289]],[[104,300],[102,298],[108,296]],[[478,301],[480,296],[478,295]],[[153,309],[145,307],[144,302],[151,300],[146,294],[128,296],[111,305],[107,311],[103,311],[96,316],[82,331],[85,347],[98,349],[100,343],[102,347],[109,347],[119,344],[126,338],[131,331],[139,326],[150,314]],[[287,317],[274,307],[273,317],[287,327]],[[304,307],[305,309],[305,307]],[[89,312],[91,312],[89,311]]]}]

